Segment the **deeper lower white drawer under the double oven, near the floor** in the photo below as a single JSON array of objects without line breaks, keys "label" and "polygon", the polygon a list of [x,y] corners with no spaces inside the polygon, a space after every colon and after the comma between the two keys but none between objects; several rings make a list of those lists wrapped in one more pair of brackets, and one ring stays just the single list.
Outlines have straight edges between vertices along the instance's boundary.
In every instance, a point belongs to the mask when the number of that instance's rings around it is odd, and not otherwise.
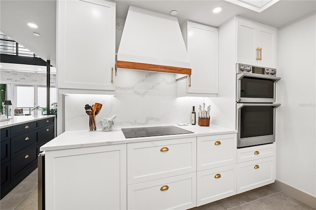
[{"label": "deeper lower white drawer under the double oven, near the floor", "polygon": [[237,164],[237,193],[271,184],[275,179],[275,157]]}]

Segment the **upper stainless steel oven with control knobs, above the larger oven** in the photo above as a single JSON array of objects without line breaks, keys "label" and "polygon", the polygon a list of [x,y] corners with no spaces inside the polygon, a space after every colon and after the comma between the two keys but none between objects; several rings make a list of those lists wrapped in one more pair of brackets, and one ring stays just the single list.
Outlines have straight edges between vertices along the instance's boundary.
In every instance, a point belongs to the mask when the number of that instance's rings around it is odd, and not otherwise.
[{"label": "upper stainless steel oven with control knobs, above the larger oven", "polygon": [[248,103],[275,103],[276,69],[245,64],[236,65],[237,94],[236,101]]}]

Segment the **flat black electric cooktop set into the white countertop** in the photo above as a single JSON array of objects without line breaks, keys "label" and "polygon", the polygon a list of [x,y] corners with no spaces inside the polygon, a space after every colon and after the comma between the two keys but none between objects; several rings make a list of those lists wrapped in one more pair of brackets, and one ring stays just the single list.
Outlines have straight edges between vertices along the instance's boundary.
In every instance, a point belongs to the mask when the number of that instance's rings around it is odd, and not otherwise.
[{"label": "flat black electric cooktop set into the white countertop", "polygon": [[155,137],[174,134],[192,134],[194,132],[176,126],[157,126],[143,128],[121,128],[126,139],[138,137]]}]

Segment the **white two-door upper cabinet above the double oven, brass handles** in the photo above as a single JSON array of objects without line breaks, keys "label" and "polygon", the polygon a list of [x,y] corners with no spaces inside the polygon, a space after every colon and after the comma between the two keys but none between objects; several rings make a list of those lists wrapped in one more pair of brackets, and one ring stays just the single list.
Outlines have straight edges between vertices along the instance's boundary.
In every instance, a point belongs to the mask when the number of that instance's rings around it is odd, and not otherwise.
[{"label": "white two-door upper cabinet above the double oven, brass handles", "polygon": [[237,19],[237,63],[276,68],[276,29]]}]

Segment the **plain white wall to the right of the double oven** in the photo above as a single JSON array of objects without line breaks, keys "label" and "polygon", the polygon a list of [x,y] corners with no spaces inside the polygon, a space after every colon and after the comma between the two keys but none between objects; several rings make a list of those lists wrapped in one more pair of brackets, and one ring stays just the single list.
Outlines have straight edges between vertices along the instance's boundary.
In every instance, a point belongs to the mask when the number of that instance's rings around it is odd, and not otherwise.
[{"label": "plain white wall to the right of the double oven", "polygon": [[316,196],[316,15],[278,31],[276,179]]}]

